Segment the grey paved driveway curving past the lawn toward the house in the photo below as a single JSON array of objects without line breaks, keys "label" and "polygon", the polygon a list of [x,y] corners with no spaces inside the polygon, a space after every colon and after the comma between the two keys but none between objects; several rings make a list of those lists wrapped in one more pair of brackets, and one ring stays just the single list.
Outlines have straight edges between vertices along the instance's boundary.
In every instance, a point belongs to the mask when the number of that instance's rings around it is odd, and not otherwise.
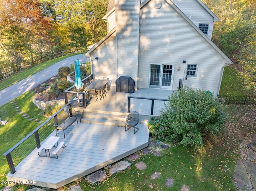
[{"label": "grey paved driveway curving past the lawn toward the house", "polygon": [[70,66],[74,63],[76,59],[79,59],[81,63],[89,61],[84,57],[84,54],[74,55],[68,57],[62,61],[51,65],[50,67],[30,76],[26,79],[23,79],[17,82],[14,85],[11,85],[0,91],[0,106],[6,104],[10,100],[22,95],[23,93],[35,88],[38,84],[43,83],[44,81],[50,79],[51,77],[57,75],[58,69],[62,66]]}]

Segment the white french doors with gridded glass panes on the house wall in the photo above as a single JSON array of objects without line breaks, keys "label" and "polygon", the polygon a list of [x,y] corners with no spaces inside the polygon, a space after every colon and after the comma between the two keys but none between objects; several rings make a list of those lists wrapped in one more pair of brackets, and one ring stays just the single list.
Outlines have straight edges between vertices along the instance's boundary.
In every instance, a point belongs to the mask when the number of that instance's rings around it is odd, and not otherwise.
[{"label": "white french doors with gridded glass panes on the house wall", "polygon": [[173,65],[150,65],[150,88],[172,89]]}]

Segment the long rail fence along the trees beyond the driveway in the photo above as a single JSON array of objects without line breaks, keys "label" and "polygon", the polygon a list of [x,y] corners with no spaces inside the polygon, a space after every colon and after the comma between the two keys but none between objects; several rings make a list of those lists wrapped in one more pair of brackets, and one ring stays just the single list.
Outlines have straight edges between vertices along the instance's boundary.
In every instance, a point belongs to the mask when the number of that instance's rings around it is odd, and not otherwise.
[{"label": "long rail fence along the trees beyond the driveway", "polygon": [[58,57],[70,55],[70,54],[73,54],[73,53],[83,52],[83,51],[85,51],[85,49],[70,49],[70,50],[66,50],[66,51],[60,51],[60,52],[57,52],[57,53],[52,53],[52,54],[49,54],[49,55],[44,55],[43,57],[41,57],[40,59],[35,60],[34,62],[24,64],[20,67],[11,69],[11,70],[9,70],[5,73],[0,74],[0,82],[3,79],[5,79],[5,78],[7,78],[11,75],[14,75],[14,74],[16,74],[20,71],[23,71],[25,69],[28,69],[28,68],[33,67],[35,65],[38,65],[42,62],[45,62],[45,61],[48,61],[48,60],[51,60],[51,59],[55,59],[55,58],[58,58]]}]

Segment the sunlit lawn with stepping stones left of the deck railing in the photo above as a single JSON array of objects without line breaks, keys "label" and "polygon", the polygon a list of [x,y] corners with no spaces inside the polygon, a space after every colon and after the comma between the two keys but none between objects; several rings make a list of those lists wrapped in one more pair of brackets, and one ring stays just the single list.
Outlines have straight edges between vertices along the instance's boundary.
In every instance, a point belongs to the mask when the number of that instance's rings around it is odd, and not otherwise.
[{"label": "sunlit lawn with stepping stones left of the deck railing", "polygon": [[[7,120],[5,126],[0,125],[0,180],[6,179],[6,174],[9,172],[9,167],[6,158],[3,156],[4,152],[14,146],[32,130],[40,125],[40,120],[43,122],[46,118],[42,115],[42,110],[38,109],[32,102],[34,91],[28,91],[21,96],[18,96],[12,101],[15,101],[21,111],[29,118],[38,119],[37,122],[29,121],[19,114],[12,104],[7,103],[0,107],[0,118]],[[0,185],[0,188],[4,185]]]}]

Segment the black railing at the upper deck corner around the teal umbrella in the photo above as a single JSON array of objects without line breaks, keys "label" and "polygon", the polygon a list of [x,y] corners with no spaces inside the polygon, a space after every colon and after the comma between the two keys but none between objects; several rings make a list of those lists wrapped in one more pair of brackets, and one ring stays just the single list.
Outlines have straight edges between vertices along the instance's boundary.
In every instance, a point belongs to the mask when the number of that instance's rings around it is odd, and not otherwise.
[{"label": "black railing at the upper deck corner around the teal umbrella", "polygon": [[[83,88],[85,88],[87,86],[86,83],[90,82],[90,80],[92,79],[93,74],[82,79]],[[86,108],[87,94],[83,91],[83,88],[81,91],[78,91],[76,87],[73,85],[70,88],[66,89],[64,91],[65,103],[71,102],[72,107],[82,106],[83,108]],[[82,95],[82,99],[80,98],[80,95]]]}]

